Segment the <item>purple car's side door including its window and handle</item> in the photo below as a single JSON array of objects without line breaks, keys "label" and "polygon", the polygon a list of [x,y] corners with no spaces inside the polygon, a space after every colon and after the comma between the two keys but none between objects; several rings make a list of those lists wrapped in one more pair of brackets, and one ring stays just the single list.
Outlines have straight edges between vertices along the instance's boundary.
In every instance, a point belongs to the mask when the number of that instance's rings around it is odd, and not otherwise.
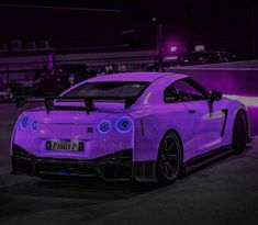
[{"label": "purple car's side door including its window and handle", "polygon": [[210,93],[190,78],[173,85],[178,98],[186,104],[195,126],[198,155],[204,154],[222,142],[225,112],[218,102],[210,101]]}]

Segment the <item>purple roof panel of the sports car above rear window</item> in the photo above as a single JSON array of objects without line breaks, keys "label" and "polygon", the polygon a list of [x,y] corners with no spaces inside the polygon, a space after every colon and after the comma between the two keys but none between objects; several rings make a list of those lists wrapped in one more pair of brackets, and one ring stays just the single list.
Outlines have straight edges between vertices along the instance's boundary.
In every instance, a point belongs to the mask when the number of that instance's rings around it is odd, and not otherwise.
[{"label": "purple roof panel of the sports car above rear window", "polygon": [[94,78],[90,78],[87,82],[101,82],[101,81],[138,81],[138,82],[153,82],[158,78],[165,76],[175,76],[175,80],[186,78],[186,75],[179,75],[173,72],[121,72],[114,75],[104,75]]}]

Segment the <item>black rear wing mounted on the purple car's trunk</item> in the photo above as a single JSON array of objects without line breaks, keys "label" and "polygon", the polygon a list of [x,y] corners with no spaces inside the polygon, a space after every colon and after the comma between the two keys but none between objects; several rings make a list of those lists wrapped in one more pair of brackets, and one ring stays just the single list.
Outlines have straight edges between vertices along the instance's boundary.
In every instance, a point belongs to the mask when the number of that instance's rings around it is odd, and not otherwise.
[{"label": "black rear wing mounted on the purple car's trunk", "polygon": [[[58,102],[58,100],[63,100],[66,102],[82,101],[85,103],[85,106],[55,104],[55,101]],[[51,111],[55,111],[55,110],[60,110],[60,111],[78,110],[78,111],[86,111],[87,113],[90,113],[91,111],[96,110],[94,103],[93,103],[94,101],[101,101],[101,102],[114,101],[115,102],[117,100],[124,101],[124,108],[127,109],[132,104],[134,104],[134,102],[136,101],[136,98],[135,97],[45,97],[43,99],[32,99],[32,98],[30,99],[26,97],[15,98],[18,108],[21,108],[31,101],[43,101],[45,103],[47,114]]]}]

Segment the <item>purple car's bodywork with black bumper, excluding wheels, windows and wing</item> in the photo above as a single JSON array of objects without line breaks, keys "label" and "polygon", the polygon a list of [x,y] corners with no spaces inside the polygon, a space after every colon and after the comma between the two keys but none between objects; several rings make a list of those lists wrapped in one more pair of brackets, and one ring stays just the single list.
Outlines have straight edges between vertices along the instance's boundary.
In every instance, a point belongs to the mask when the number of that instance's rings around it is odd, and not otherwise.
[{"label": "purple car's bodywork with black bumper, excluding wheels, windows and wing", "polygon": [[42,106],[24,112],[11,139],[13,172],[153,181],[160,143],[169,131],[180,137],[183,164],[231,146],[236,113],[246,112],[245,106],[225,98],[212,104],[209,100],[165,102],[166,88],[183,79],[188,77],[156,72],[92,78],[86,82],[148,85],[127,106],[92,100],[94,109],[87,111],[86,102],[54,100],[49,111]]}]

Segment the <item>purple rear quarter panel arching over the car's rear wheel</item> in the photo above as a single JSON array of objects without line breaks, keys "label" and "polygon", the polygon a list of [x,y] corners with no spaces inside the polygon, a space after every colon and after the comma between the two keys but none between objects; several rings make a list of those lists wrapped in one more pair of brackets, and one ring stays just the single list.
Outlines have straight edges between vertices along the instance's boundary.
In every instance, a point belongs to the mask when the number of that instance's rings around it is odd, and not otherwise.
[{"label": "purple rear quarter panel arching over the car's rear wheel", "polygon": [[160,142],[168,131],[181,139],[183,161],[195,156],[194,124],[183,103],[156,104],[134,112],[134,160],[157,160]]}]

